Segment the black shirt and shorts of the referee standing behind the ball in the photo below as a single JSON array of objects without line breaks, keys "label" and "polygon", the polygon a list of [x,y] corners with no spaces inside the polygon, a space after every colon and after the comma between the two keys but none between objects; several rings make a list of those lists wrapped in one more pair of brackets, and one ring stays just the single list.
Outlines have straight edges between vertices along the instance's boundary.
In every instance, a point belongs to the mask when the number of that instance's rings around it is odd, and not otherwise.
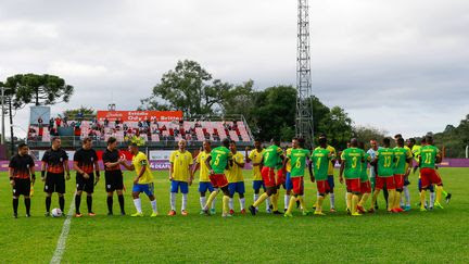
[{"label": "black shirt and shorts of the referee standing behind the ball", "polygon": [[47,150],[42,156],[42,162],[47,164],[45,192],[65,193],[64,163],[68,162],[65,150]]}]

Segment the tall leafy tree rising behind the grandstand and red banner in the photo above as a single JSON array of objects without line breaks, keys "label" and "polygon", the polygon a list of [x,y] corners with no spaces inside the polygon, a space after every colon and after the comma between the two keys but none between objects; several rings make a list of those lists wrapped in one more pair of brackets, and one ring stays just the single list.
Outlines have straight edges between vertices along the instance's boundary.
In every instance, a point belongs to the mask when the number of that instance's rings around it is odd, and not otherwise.
[{"label": "tall leafy tree rising behind the grandstand and red banner", "polygon": [[224,106],[252,91],[252,81],[234,86],[214,79],[198,62],[178,61],[152,91],[139,110],[181,110],[186,116],[224,113]]}]

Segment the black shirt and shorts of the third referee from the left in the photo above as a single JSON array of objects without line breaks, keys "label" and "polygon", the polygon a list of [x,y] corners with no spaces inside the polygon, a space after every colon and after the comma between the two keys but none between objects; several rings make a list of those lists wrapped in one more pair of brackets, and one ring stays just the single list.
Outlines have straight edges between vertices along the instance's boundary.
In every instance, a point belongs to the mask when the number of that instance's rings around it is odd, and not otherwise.
[{"label": "black shirt and shorts of the third referee from the left", "polygon": [[85,178],[83,174],[77,172],[76,184],[77,190],[92,193],[94,191],[94,162],[98,161],[98,155],[93,149],[85,150],[80,148],[75,152],[74,162],[78,163],[78,167],[89,175]]}]

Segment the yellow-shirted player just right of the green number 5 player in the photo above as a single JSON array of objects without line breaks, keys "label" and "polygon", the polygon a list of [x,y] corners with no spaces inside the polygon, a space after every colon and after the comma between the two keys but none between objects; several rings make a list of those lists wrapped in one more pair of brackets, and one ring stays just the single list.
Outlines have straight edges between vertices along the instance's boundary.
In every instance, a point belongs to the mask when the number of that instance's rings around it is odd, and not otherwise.
[{"label": "yellow-shirted player just right of the green number 5 player", "polygon": [[237,192],[240,202],[240,212],[245,214],[245,200],[244,200],[244,178],[242,175],[242,168],[244,167],[244,156],[241,152],[237,151],[236,142],[230,141],[229,149],[232,154],[232,165],[228,167],[225,172],[228,179],[228,190],[229,190],[229,213],[234,214],[233,196]]}]

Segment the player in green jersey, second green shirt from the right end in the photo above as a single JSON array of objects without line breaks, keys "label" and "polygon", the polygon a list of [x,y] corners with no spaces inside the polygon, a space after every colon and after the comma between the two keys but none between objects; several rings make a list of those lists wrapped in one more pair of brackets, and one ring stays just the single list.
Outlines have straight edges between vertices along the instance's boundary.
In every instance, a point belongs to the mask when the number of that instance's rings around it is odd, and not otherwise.
[{"label": "player in green jersey, second green shirt from the right end", "polygon": [[403,212],[401,209],[401,194],[404,190],[404,179],[408,176],[408,168],[411,167],[413,154],[410,149],[404,148],[404,138],[397,137],[397,147],[394,148],[394,183],[396,192],[394,201],[390,200],[391,210],[394,213]]}]

